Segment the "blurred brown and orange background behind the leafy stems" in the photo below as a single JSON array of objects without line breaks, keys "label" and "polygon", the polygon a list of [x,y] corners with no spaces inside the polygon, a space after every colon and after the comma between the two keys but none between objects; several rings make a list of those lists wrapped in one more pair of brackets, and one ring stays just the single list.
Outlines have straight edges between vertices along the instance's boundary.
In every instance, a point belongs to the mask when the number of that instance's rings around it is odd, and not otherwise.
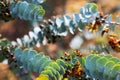
[{"label": "blurred brown and orange background behind the leafy stems", "polygon": [[[62,16],[64,14],[72,16],[73,13],[79,13],[80,7],[88,2],[96,3],[99,11],[102,11],[104,14],[112,14],[113,20],[116,16],[120,16],[120,0],[46,0],[46,2],[42,4],[46,10],[44,17],[49,19],[52,16]],[[16,40],[16,38],[21,38],[25,34],[28,34],[28,31],[31,30],[29,26],[29,22],[20,19],[9,22],[1,20],[0,37],[8,38],[11,41]],[[119,30],[117,32],[119,32]],[[88,34],[89,36],[87,36]],[[86,40],[84,40],[83,37],[85,37]],[[67,51],[70,48],[79,49],[81,46],[86,47],[85,45],[91,45],[91,43],[95,41],[93,37],[94,35],[91,34],[90,36],[90,33],[87,32],[84,34],[76,33],[75,35],[68,34],[60,43],[47,44],[46,46],[35,49],[38,52],[45,52],[45,54],[49,55],[52,59],[56,59],[62,55],[61,52]],[[118,56],[118,54],[115,54],[115,56]],[[0,63],[0,80],[18,80],[18,78],[11,73],[8,65]]]}]

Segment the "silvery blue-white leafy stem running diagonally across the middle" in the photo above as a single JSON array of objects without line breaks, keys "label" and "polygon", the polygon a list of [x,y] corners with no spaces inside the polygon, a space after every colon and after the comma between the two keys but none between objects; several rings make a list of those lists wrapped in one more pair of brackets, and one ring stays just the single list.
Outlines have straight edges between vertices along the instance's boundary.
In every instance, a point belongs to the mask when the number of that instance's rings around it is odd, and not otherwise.
[{"label": "silvery blue-white leafy stem running diagonally across the middle", "polygon": [[[22,39],[18,38],[15,45],[32,47],[38,45],[39,42],[43,44],[45,39],[52,40],[53,36],[66,36],[68,32],[74,34],[76,30],[84,31],[86,26],[95,21],[96,17],[100,17],[97,6],[89,3],[80,9],[79,14],[73,14],[73,18],[64,15],[63,17],[47,20],[48,24],[43,22],[43,29],[35,26],[34,30],[29,32],[29,35],[25,35]],[[111,30],[114,30],[115,25],[119,22],[119,17],[117,17],[115,23],[111,23],[111,20],[112,17],[108,16],[105,22],[110,26]],[[98,31],[101,32],[104,28],[104,24],[99,25]]]}]

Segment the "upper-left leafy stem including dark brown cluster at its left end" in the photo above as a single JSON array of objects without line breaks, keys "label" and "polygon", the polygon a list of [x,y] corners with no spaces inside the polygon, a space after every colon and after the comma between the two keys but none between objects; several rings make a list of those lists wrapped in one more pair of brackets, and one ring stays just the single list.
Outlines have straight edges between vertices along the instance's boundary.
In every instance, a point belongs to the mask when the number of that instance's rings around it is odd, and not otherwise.
[{"label": "upper-left leafy stem including dark brown cluster at its left end", "polygon": [[26,21],[41,21],[45,14],[41,3],[45,0],[1,0],[0,20],[10,21],[20,18]]}]

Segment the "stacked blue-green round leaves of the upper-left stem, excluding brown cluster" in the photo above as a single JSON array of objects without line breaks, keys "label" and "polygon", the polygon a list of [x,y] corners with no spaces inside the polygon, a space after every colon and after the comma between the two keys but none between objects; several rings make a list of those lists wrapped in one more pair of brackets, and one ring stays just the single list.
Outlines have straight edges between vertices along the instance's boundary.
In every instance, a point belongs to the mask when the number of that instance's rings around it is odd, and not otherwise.
[{"label": "stacked blue-green round leaves of the upper-left stem, excluding brown cluster", "polygon": [[42,6],[31,4],[26,1],[11,3],[10,11],[14,18],[20,18],[29,21],[41,21],[43,15],[45,14]]}]

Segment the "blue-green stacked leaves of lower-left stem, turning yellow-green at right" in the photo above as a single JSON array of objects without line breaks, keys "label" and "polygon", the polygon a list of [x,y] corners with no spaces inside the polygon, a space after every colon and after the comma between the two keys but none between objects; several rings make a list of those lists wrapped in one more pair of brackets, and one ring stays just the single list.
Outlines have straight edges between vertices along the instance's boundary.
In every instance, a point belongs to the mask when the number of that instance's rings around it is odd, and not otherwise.
[{"label": "blue-green stacked leaves of lower-left stem, turning yellow-green at right", "polygon": [[37,53],[34,50],[16,48],[14,56],[19,67],[25,70],[48,75],[50,80],[61,80],[65,74],[66,64],[63,60],[51,60],[44,53]]}]

